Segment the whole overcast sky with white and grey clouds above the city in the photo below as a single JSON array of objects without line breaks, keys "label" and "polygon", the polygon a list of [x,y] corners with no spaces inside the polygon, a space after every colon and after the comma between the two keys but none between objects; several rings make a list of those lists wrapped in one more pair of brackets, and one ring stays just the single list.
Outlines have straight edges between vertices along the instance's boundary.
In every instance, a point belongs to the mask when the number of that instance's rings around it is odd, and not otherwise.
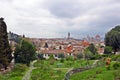
[{"label": "whole overcast sky with white and grey clouds above the city", "polygon": [[28,37],[104,36],[120,24],[120,0],[0,0],[0,16]]}]

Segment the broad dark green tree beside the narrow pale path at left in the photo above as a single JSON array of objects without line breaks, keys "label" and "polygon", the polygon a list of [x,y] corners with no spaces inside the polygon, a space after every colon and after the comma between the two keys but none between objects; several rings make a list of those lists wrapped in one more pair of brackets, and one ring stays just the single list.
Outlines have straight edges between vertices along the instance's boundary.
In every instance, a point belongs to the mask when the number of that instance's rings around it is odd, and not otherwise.
[{"label": "broad dark green tree beside the narrow pale path at left", "polygon": [[36,58],[35,47],[30,42],[23,39],[21,44],[17,46],[14,56],[16,63],[23,63],[28,66],[30,61]]}]

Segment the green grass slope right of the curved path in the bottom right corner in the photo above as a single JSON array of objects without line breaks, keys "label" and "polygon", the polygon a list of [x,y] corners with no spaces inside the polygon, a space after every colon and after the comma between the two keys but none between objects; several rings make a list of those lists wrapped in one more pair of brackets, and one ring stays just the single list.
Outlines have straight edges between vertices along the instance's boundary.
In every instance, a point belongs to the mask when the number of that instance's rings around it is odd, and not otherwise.
[{"label": "green grass slope right of the curved path in the bottom right corner", "polygon": [[[116,78],[119,79],[116,79]],[[114,70],[112,65],[110,70],[105,66],[73,74],[70,80],[120,80],[120,68]]]}]

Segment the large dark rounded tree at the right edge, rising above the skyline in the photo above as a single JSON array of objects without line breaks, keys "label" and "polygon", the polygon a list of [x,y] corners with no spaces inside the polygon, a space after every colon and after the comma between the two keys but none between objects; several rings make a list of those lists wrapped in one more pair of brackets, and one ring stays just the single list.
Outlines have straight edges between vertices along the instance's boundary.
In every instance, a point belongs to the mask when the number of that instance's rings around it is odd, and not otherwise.
[{"label": "large dark rounded tree at the right edge, rising above the skyline", "polygon": [[120,50],[120,26],[111,29],[105,35],[105,45],[111,46],[114,53]]}]

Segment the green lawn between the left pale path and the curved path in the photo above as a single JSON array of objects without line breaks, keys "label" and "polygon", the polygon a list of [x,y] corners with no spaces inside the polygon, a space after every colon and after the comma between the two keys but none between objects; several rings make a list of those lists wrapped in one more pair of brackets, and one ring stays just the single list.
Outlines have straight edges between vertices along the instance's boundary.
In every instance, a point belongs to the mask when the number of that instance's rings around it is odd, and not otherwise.
[{"label": "green lawn between the left pale path and the curved path", "polygon": [[[90,61],[92,64],[94,61]],[[32,71],[31,80],[64,80],[65,73],[71,68],[86,66],[85,60],[64,61],[63,63],[56,60],[37,61]]]}]

